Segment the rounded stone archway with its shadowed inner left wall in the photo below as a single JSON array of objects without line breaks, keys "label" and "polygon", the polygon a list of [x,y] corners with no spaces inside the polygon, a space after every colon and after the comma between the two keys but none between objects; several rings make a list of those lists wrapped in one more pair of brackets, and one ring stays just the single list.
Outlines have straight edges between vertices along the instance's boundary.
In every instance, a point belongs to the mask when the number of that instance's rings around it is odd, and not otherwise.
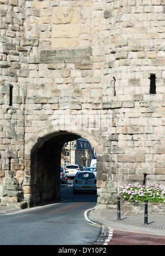
[{"label": "rounded stone archway with its shadowed inner left wall", "polygon": [[83,137],[95,148],[98,161],[102,154],[102,143],[96,135],[78,127],[61,128],[43,128],[26,140],[23,190],[29,207],[60,199],[59,170],[64,143]]}]

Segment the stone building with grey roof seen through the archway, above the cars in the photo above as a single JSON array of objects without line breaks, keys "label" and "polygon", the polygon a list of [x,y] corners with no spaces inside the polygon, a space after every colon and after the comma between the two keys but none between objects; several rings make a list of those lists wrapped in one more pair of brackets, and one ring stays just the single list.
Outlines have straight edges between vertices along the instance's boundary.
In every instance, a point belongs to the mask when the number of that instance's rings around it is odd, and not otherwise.
[{"label": "stone building with grey roof seen through the archway, above the cars", "polygon": [[91,160],[96,158],[94,148],[92,148],[89,141],[84,138],[65,143],[62,152],[62,166],[76,164],[79,166],[89,167]]}]

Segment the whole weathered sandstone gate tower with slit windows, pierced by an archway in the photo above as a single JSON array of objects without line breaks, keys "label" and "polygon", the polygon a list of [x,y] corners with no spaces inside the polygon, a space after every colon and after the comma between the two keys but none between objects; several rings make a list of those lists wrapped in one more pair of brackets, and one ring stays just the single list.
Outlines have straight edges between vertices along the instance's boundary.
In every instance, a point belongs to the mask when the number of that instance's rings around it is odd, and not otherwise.
[{"label": "whole weathered sandstone gate tower with slit windows, pierced by an archway", "polygon": [[97,154],[98,209],[165,183],[165,1],[0,0],[0,204],[59,199],[65,142]]}]

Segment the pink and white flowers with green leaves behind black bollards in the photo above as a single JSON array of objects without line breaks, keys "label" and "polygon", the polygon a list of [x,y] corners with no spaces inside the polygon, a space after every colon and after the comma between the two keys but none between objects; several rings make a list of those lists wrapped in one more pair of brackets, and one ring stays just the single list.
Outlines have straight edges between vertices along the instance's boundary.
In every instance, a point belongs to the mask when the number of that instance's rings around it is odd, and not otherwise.
[{"label": "pink and white flowers with green leaves behind black bollards", "polygon": [[141,186],[133,183],[120,187],[119,193],[125,202],[142,203],[148,200],[154,203],[165,203],[164,185]]}]

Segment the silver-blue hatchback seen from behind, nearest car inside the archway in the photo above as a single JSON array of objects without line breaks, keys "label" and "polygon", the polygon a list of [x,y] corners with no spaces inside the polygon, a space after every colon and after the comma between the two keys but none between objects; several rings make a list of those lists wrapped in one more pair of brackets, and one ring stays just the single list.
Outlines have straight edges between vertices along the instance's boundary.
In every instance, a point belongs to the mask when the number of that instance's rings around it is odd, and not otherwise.
[{"label": "silver-blue hatchback seen from behind, nearest car inside the archway", "polygon": [[97,192],[96,176],[91,171],[79,171],[73,181],[73,193],[76,192]]}]

